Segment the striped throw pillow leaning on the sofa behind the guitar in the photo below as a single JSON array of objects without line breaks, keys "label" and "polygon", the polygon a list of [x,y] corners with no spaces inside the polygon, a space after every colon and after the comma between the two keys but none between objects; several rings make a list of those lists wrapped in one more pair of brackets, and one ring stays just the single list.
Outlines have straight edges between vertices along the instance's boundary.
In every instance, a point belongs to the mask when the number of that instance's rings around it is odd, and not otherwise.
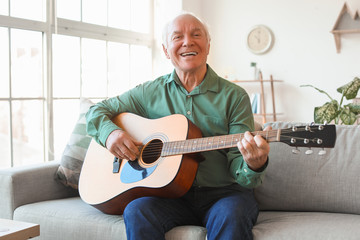
[{"label": "striped throw pillow leaning on the sofa behind the guitar", "polygon": [[92,105],[94,103],[90,100],[80,99],[80,115],[61,156],[56,174],[60,182],[74,189],[78,188],[81,167],[91,142],[91,137],[86,132],[85,114]]}]

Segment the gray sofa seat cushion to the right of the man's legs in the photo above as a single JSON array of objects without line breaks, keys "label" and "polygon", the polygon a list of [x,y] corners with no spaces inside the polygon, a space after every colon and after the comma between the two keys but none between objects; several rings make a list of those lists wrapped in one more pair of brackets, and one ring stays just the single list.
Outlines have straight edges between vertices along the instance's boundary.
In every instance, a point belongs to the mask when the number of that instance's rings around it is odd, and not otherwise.
[{"label": "gray sofa seat cushion to the right of the man's legs", "polygon": [[260,212],[254,240],[357,240],[360,215],[321,212]]}]

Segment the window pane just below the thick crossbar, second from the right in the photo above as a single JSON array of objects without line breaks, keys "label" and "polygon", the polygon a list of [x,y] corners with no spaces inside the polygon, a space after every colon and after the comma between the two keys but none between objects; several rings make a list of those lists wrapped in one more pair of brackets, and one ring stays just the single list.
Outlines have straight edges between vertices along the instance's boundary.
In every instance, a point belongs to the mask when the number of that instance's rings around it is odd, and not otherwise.
[{"label": "window pane just below the thick crossbar, second from the right", "polygon": [[130,87],[129,45],[108,43],[108,93],[117,96]]}]

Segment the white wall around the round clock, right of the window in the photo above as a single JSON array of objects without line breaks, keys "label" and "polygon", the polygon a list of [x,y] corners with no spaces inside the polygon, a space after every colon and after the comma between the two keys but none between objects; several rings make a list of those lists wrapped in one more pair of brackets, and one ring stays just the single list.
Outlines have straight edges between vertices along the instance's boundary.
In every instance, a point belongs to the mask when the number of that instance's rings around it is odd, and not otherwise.
[{"label": "white wall around the round clock, right of the window", "polygon": [[[360,76],[360,34],[342,36],[337,54],[330,33],[343,4],[343,0],[183,0],[182,8],[209,24],[208,62],[219,75],[249,79],[250,62],[257,62],[264,78],[272,74],[284,81],[275,89],[277,110],[284,113],[279,120],[311,122],[314,107],[328,98],[300,85],[315,85],[339,99],[336,88]],[[360,11],[359,0],[348,4],[353,13]],[[267,25],[275,35],[275,44],[265,55],[254,55],[245,45],[256,24]],[[255,91],[249,84],[243,86]]]}]

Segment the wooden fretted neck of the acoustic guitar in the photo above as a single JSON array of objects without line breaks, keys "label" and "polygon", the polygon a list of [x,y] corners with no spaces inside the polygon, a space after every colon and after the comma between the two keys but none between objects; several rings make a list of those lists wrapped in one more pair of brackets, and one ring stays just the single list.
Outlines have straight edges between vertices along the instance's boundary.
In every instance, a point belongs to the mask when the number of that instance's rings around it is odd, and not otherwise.
[{"label": "wooden fretted neck of the acoustic guitar", "polygon": [[[260,135],[268,142],[280,141],[281,129],[271,131],[255,131],[252,135]],[[206,152],[225,148],[236,147],[237,143],[243,139],[244,133],[222,135],[215,137],[195,138],[184,141],[165,142],[161,156],[173,156],[197,152]]]}]

